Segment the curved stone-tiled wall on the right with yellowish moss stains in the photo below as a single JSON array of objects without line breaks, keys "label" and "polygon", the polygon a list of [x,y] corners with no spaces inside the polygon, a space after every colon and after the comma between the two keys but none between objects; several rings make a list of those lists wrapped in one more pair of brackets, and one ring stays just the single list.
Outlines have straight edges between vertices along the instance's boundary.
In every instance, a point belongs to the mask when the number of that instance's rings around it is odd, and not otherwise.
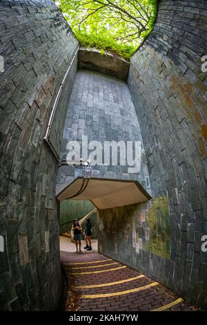
[{"label": "curved stone-tiled wall on the right with yellowish moss stains", "polygon": [[[152,205],[100,214],[103,253],[130,263],[204,308],[207,77],[201,57],[207,54],[206,25],[206,1],[159,1],[155,28],[130,59],[128,77],[146,150]],[[125,244],[119,243],[124,238],[122,223],[127,228]],[[112,228],[120,231],[116,254],[106,247],[116,242],[109,239]]]}]

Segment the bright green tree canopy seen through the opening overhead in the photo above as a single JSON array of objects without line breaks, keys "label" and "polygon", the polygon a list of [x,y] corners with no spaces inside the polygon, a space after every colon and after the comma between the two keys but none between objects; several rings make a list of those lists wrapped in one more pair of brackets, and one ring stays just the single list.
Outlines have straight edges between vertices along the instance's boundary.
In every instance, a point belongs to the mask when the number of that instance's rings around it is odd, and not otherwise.
[{"label": "bright green tree canopy seen through the opening overhead", "polygon": [[128,58],[152,30],[157,0],[55,1],[85,46],[110,49]]}]

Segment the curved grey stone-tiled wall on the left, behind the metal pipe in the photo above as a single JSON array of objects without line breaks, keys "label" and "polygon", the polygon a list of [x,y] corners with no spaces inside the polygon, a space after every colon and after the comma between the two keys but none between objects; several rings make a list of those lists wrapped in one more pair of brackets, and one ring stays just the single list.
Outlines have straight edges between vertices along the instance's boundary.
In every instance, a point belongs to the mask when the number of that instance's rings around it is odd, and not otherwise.
[{"label": "curved grey stone-tiled wall on the left, behind the metal pipe", "polygon": [[[78,42],[50,0],[1,1],[0,12],[0,309],[55,310],[61,295],[57,163],[43,136]],[[58,111],[55,145],[60,118]]]}]

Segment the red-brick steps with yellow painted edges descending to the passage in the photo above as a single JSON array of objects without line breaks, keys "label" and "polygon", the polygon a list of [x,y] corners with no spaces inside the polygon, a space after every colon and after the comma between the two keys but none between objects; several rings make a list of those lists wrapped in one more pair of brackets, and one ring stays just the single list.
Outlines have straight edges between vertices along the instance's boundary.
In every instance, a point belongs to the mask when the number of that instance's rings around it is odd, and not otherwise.
[{"label": "red-brick steps with yellow painted edges descending to the passage", "polygon": [[97,252],[63,252],[66,310],[197,310],[156,281]]}]

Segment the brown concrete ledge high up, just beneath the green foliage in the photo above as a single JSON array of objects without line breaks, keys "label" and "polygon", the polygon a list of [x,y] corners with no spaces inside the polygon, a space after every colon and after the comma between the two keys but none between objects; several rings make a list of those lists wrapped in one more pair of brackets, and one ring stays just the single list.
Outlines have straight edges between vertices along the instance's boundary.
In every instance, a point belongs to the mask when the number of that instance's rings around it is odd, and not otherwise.
[{"label": "brown concrete ledge high up, just beneath the green foliage", "polygon": [[117,53],[97,48],[79,48],[79,68],[86,68],[127,80],[130,63]]}]

